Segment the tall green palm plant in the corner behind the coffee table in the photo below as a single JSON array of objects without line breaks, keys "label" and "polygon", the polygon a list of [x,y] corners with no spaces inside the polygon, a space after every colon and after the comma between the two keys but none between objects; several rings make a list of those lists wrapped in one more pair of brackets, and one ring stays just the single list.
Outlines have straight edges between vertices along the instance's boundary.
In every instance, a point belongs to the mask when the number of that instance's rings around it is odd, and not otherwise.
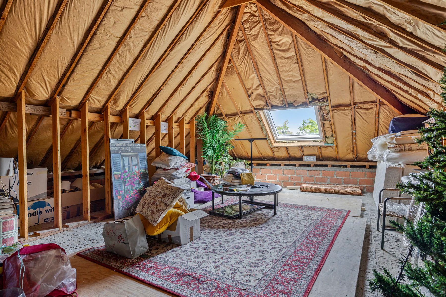
[{"label": "tall green palm plant in the corner behind the coffee table", "polygon": [[202,157],[209,164],[210,173],[216,174],[217,164],[227,155],[231,147],[230,141],[235,135],[244,129],[244,124],[237,122],[232,130],[229,130],[228,123],[215,114],[208,116],[205,113],[195,118],[197,126],[197,136],[202,140]]}]

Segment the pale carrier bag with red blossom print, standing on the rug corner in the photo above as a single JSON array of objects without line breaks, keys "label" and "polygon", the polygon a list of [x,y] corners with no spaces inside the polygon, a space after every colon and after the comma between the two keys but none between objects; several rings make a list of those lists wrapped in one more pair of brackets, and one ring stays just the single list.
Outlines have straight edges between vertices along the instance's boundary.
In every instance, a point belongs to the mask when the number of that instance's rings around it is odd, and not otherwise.
[{"label": "pale carrier bag with red blossom print, standing on the rug corner", "polygon": [[105,223],[102,231],[105,249],[135,259],[149,250],[145,230],[139,216]]}]

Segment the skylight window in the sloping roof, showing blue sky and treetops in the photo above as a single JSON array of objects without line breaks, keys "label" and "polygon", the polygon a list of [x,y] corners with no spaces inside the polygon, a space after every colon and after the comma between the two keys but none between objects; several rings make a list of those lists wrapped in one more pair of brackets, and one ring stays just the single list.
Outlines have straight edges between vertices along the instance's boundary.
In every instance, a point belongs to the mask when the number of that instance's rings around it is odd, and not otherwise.
[{"label": "skylight window in the sloping roof, showing blue sky and treetops", "polygon": [[267,110],[264,114],[276,141],[323,138],[317,106]]}]

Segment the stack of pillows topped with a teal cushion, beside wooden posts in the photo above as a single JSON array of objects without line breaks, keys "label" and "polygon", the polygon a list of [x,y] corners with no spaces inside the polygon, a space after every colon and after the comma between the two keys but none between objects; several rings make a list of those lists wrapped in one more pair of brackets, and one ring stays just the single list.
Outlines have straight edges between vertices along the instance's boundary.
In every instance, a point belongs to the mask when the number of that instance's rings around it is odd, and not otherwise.
[{"label": "stack of pillows topped with a teal cushion, beside wooden posts", "polygon": [[187,162],[187,157],[169,146],[160,146],[161,154],[152,162],[155,167],[160,167],[152,176],[152,183],[161,177],[167,180],[182,179],[190,174],[194,163]]}]

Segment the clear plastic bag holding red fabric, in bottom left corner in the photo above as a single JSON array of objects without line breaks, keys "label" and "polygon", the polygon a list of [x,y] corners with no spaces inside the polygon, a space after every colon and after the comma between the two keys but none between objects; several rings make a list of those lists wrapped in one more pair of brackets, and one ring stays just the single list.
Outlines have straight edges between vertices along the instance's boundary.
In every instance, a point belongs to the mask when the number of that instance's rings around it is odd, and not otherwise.
[{"label": "clear plastic bag holding red fabric, in bottom left corner", "polygon": [[26,297],[62,297],[76,290],[76,269],[58,244],[25,246],[4,260],[3,288],[22,288]]}]

